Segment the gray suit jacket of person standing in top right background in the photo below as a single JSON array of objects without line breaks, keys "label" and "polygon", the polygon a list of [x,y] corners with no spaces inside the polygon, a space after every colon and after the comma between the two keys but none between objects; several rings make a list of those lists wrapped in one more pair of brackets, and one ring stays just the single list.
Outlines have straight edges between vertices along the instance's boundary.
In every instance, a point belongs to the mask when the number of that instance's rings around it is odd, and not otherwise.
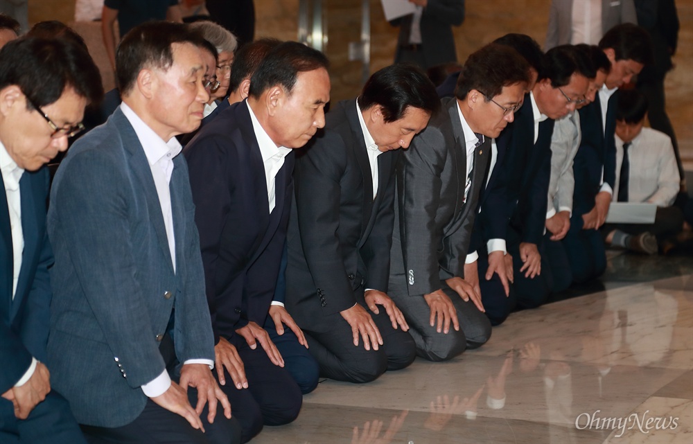
[{"label": "gray suit jacket of person standing in top right background", "polygon": [[[554,46],[570,44],[572,36],[572,1],[552,0],[549,12],[549,27],[546,32],[544,50]],[[602,0],[602,35],[622,23],[638,24],[633,0]]]}]

